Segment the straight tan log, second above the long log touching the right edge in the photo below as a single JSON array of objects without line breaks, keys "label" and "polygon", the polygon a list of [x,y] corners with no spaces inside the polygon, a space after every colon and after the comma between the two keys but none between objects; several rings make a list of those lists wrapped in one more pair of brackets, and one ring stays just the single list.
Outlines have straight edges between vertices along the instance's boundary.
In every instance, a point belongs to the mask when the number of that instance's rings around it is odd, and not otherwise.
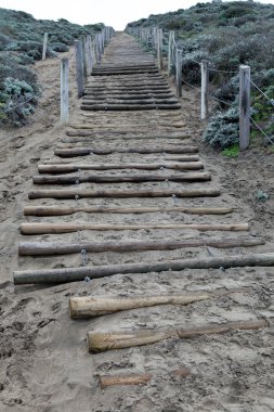
[{"label": "straight tan log, second above the long log touching the right edge", "polygon": [[206,223],[145,223],[145,224],[94,224],[94,223],[22,223],[19,227],[22,234],[50,234],[50,233],[73,233],[82,230],[94,231],[123,231],[123,230],[197,230],[200,232],[210,231],[248,231],[248,223],[235,224],[206,224]]}]

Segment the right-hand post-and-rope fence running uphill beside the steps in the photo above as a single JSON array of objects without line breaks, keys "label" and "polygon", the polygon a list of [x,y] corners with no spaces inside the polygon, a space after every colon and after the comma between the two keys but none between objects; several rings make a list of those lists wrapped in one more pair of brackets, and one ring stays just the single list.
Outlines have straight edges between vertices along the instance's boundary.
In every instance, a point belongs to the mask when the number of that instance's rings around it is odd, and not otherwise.
[{"label": "right-hand post-and-rope fence running uphill beside the steps", "polygon": [[[182,68],[183,68],[183,62],[182,62],[182,53],[184,52],[183,47],[181,47],[175,41],[175,33],[174,30],[162,30],[157,27],[154,28],[133,28],[129,29],[129,33],[136,38],[144,39],[151,39],[151,43],[155,47],[156,50],[156,57],[158,60],[158,48],[156,48],[157,43],[157,36],[158,31],[161,30],[161,38],[169,39],[169,46],[168,46],[168,73],[169,75],[174,74],[175,79],[175,86],[177,86],[177,94],[178,96],[182,96],[182,85],[186,85],[191,87],[193,90],[199,90],[200,91],[200,118],[201,120],[205,120],[209,116],[208,111],[208,103],[209,99],[214,100],[216,102],[219,102],[223,105],[226,105],[229,107],[232,107],[233,104],[230,102],[225,102],[224,100],[221,100],[213,95],[212,93],[209,93],[209,73],[220,73],[224,75],[239,75],[239,147],[242,151],[246,150],[249,146],[250,142],[250,121],[251,124],[260,130],[260,132],[265,137],[265,139],[274,144],[274,137],[268,136],[260,125],[256,123],[256,120],[250,116],[250,110],[251,110],[251,99],[250,99],[250,89],[251,86],[261,94],[263,95],[268,102],[274,106],[274,99],[271,99],[265,94],[250,78],[250,67],[242,65],[239,66],[239,70],[225,70],[225,69],[218,69],[212,66],[212,63],[209,61],[203,60],[198,62],[197,60],[187,55],[187,60],[199,65],[200,67],[200,88],[191,85],[187,82],[183,76],[182,76]],[[144,36],[144,33],[146,34]],[[162,48],[162,43],[161,43]]]}]

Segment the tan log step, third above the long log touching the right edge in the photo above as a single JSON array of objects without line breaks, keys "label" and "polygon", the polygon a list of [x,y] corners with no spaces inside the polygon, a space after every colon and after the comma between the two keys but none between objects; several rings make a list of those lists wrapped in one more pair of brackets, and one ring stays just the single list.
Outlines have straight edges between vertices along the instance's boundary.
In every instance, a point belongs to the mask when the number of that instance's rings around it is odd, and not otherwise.
[{"label": "tan log step, third above the long log touching the right edge", "polygon": [[26,206],[24,208],[25,216],[66,216],[77,214],[79,211],[86,214],[153,214],[153,213],[184,213],[190,215],[227,215],[234,209],[230,207],[108,207],[108,206]]}]

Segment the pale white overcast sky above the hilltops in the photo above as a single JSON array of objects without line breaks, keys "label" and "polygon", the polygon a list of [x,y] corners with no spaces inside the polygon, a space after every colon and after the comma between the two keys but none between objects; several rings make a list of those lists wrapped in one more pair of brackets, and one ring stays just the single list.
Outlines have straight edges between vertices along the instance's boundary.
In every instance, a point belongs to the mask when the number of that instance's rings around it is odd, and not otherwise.
[{"label": "pale white overcast sky above the hilltops", "polygon": [[[199,0],[0,0],[0,8],[22,10],[36,18],[66,18],[71,23],[105,23],[122,30],[127,23],[149,14],[188,9]],[[200,0],[200,2],[208,2]],[[209,1],[210,2],[210,1]],[[274,0],[262,0],[272,3]]]}]

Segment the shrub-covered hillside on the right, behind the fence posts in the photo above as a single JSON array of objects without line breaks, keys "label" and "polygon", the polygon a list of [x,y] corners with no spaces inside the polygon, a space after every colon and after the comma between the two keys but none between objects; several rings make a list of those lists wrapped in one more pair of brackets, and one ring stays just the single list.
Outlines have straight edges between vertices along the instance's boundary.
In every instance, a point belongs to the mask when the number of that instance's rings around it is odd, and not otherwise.
[{"label": "shrub-covered hillside on the right, behind the fence posts", "polygon": [[[230,147],[238,142],[237,94],[238,67],[251,67],[252,116],[268,136],[273,137],[274,98],[274,5],[253,1],[212,1],[197,3],[187,10],[151,15],[129,23],[133,27],[161,27],[166,33],[175,30],[175,41],[183,50],[183,80],[199,86],[200,68],[197,63],[208,60],[214,115],[205,132],[205,140],[216,147]],[[166,42],[167,44],[167,42]],[[167,46],[166,46],[167,48]],[[230,107],[227,110],[227,107]],[[263,137],[252,130],[251,137]],[[258,141],[258,140],[256,140]],[[264,142],[264,139],[260,139]]]}]

